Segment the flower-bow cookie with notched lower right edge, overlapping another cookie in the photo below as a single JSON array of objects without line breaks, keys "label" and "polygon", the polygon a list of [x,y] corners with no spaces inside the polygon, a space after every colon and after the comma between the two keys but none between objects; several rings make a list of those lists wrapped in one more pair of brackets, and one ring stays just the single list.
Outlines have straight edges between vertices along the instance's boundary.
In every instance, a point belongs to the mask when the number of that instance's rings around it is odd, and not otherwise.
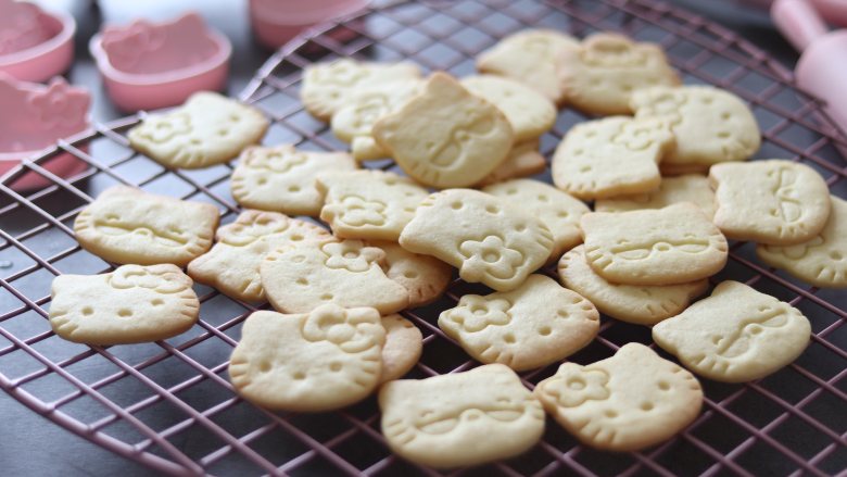
[{"label": "flower-bow cookie with notched lower right edge, overlapping another cookie", "polygon": [[673,136],[658,120],[580,123],[556,148],[553,183],[584,200],[649,192],[659,187],[658,163],[672,145]]}]

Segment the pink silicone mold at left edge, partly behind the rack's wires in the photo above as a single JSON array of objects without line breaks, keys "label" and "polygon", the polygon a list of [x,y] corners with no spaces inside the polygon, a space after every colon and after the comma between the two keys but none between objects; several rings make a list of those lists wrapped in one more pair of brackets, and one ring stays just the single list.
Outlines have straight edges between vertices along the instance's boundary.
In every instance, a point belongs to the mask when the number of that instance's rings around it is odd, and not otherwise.
[{"label": "pink silicone mold at left edge, partly behind the rack's wires", "polygon": [[[53,147],[59,139],[88,129],[91,95],[56,77],[49,85],[26,83],[0,73],[0,174],[21,161]],[[83,149],[83,148],[80,148]],[[64,152],[41,164],[60,177],[85,170],[86,163]],[[13,184],[17,190],[49,185],[37,173],[27,173]]]}]

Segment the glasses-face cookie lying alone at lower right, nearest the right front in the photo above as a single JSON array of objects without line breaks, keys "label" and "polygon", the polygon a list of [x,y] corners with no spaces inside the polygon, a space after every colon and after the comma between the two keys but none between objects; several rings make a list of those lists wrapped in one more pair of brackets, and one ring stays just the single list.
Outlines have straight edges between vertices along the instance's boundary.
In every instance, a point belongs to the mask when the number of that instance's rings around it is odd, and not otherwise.
[{"label": "glasses-face cookie lying alone at lower right, nearest the right front", "polygon": [[799,310],[737,281],[653,327],[653,339],[688,369],[725,382],[750,381],[787,365],[809,344]]}]

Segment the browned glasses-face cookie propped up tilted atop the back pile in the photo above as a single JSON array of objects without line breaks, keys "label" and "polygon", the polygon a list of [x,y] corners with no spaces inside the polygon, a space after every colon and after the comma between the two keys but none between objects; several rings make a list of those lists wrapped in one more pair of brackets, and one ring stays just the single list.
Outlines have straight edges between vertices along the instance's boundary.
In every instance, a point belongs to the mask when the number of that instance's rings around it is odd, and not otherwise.
[{"label": "browned glasses-face cookie propped up tilted atop the back pile", "polygon": [[415,180],[432,187],[467,187],[508,155],[508,120],[452,76],[435,73],[423,92],[374,125],[374,138]]}]

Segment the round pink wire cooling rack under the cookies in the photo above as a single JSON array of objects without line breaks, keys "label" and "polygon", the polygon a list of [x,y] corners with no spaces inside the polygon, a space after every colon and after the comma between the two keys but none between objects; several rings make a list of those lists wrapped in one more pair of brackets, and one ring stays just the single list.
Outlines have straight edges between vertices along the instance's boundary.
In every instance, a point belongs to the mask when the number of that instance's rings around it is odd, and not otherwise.
[{"label": "round pink wire cooling rack under the cookies", "polygon": [[[312,30],[271,57],[242,99],[273,120],[266,143],[345,149],[298,100],[302,68],[341,57],[413,60],[462,76],[473,58],[524,27],[551,27],[584,36],[618,30],[661,43],[686,84],[734,91],[751,106],[763,130],[757,158],[791,158],[820,172],[831,190],[847,197],[844,136],[821,114],[819,101],[799,91],[791,75],[735,34],[696,15],[646,0],[391,2]],[[564,110],[542,152],[585,117]],[[270,413],[241,399],[226,376],[227,360],[244,318],[255,307],[198,286],[201,319],[169,340],[137,346],[86,347],[54,336],[47,322],[51,279],[93,274],[112,265],[74,240],[76,214],[100,191],[128,184],[207,201],[225,221],[239,212],[229,191],[231,165],[169,171],[134,152],[129,117],[96,130],[18,167],[0,181],[0,388],[53,423],[127,459],[173,475],[418,475],[431,469],[391,454],[379,432],[371,398],[326,414]],[[87,152],[86,152],[87,151]],[[67,152],[85,172],[61,178],[45,168]],[[374,164],[395,168],[390,161]],[[20,193],[27,173],[51,185]],[[548,176],[542,176],[548,180]],[[762,380],[722,385],[704,379],[699,418],[655,449],[611,454],[577,443],[551,423],[543,441],[518,459],[452,474],[478,475],[832,475],[847,468],[847,312],[844,291],[819,290],[759,263],[751,243],[734,243],[726,268],[713,278],[745,281],[799,307],[814,336],[797,362]],[[547,271],[552,273],[552,271]],[[475,363],[435,326],[440,311],[480,291],[460,280],[438,302],[404,313],[425,334],[425,350],[410,377],[470,368]],[[266,309],[267,306],[261,306]],[[590,363],[623,343],[650,344],[649,330],[604,318],[599,337],[572,360]],[[522,375],[528,386],[555,372]],[[9,438],[9,437],[5,437]]]}]

